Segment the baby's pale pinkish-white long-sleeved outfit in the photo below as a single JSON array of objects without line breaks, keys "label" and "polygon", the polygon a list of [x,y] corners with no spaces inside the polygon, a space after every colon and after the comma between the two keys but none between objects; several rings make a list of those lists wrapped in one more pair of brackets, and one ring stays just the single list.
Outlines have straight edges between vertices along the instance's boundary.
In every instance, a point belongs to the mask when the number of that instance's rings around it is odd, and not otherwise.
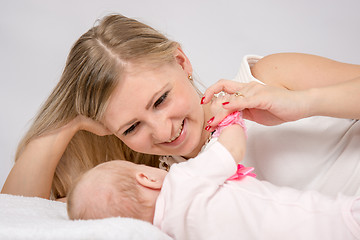
[{"label": "baby's pale pinkish-white long-sleeved outfit", "polygon": [[154,225],[174,239],[360,239],[351,214],[355,197],[276,187],[236,172],[231,154],[214,142],[174,164],[158,197]]}]

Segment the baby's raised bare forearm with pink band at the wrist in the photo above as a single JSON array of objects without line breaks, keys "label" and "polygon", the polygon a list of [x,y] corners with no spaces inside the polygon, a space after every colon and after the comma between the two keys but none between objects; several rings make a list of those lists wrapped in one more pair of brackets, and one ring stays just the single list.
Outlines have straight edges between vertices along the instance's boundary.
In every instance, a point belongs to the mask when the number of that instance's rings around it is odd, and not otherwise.
[{"label": "baby's raised bare forearm with pink band at the wrist", "polygon": [[[235,160],[235,163],[238,164],[245,154],[246,134],[241,114],[239,114],[239,112],[235,114],[239,115],[237,118],[240,119],[240,121],[235,121],[234,123],[231,123],[221,129],[218,141],[230,152]],[[226,119],[227,118],[225,118],[225,120]],[[240,123],[242,123],[242,125]]]}]

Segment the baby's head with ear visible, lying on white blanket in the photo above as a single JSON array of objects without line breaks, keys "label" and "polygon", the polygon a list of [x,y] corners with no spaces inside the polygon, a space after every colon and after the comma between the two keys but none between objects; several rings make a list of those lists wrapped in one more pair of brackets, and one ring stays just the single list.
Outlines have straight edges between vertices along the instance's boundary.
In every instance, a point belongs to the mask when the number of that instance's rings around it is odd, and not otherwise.
[{"label": "baby's head with ear visible, lying on white blanket", "polygon": [[123,160],[83,174],[67,199],[70,219],[131,217],[152,223],[166,171]]}]

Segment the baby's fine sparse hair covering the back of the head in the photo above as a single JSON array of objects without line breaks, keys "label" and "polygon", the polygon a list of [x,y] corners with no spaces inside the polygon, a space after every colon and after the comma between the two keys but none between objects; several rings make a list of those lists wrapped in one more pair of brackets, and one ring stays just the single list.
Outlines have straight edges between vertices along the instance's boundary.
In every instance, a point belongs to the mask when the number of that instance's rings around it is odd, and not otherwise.
[{"label": "baby's fine sparse hair covering the back of the head", "polygon": [[134,170],[123,165],[114,168],[107,163],[87,171],[75,182],[67,200],[70,219],[142,219],[146,206]]}]

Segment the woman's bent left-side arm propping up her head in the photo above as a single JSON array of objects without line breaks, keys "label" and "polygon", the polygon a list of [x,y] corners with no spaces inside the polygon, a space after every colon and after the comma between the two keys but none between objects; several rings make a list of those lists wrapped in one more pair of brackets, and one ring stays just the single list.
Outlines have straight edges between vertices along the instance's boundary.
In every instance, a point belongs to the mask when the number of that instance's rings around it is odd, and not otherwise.
[{"label": "woman's bent left-side arm propping up her head", "polygon": [[79,130],[109,134],[101,124],[78,116],[67,125],[33,139],[17,159],[1,193],[49,198],[56,166]]}]

